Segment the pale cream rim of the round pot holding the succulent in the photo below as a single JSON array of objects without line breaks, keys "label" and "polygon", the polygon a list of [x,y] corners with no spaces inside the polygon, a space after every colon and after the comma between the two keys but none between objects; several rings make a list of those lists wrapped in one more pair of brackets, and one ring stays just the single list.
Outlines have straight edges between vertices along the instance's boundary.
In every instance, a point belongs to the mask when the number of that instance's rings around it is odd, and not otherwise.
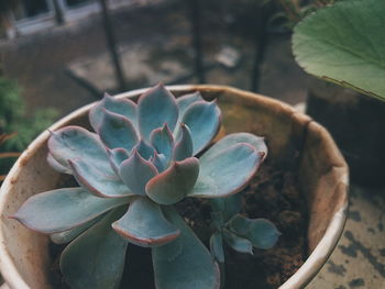
[{"label": "pale cream rim of the round pot holding the succulent", "polygon": [[[146,91],[148,88],[142,88],[142,89],[135,89],[130,90],[128,92],[119,93],[116,97],[117,98],[132,98],[139,95],[142,95],[144,91]],[[270,102],[271,104],[279,105],[285,108],[286,110],[293,111],[293,113],[302,114],[300,112],[297,112],[294,110],[293,107],[289,104],[286,104],[279,100],[275,100],[272,98],[266,98],[262,95],[249,92],[245,90],[237,89],[229,86],[217,86],[217,85],[178,85],[178,86],[167,86],[167,89],[172,91],[185,91],[185,90],[200,90],[200,91],[230,91],[233,95],[242,95],[245,98],[249,99],[258,99],[263,98],[264,101]],[[97,102],[97,101],[95,101]],[[74,112],[67,114],[66,116],[62,118],[57,122],[55,122],[53,125],[51,125],[46,131],[42,132],[22,153],[22,155],[18,158],[15,164],[12,166],[10,173],[8,174],[7,178],[4,179],[1,188],[0,188],[0,213],[1,218],[7,218],[2,215],[2,212],[4,210],[4,207],[7,205],[6,200],[7,196],[10,191],[10,188],[12,186],[12,181],[18,178],[18,175],[20,174],[22,169],[22,163],[26,162],[50,137],[50,131],[55,131],[63,125],[65,125],[68,121],[72,119],[79,116],[84,113],[86,113],[94,104],[89,103],[86,104]],[[327,137],[331,138],[330,135],[327,135]],[[333,143],[333,142],[332,142]],[[336,146],[336,144],[334,144]],[[344,164],[344,170],[345,170],[345,179],[343,182],[346,185],[349,182],[348,177],[348,166]],[[308,256],[306,262],[300,266],[300,268],[288,279],[286,282],[284,282],[279,289],[292,289],[292,288],[304,288],[316,275],[317,273],[322,268],[331,253],[333,252],[334,247],[337,246],[337,243],[342,234],[345,221],[346,221],[346,211],[348,211],[348,189],[344,190],[344,204],[342,208],[334,213],[332,216],[330,223],[328,224],[328,227],[316,246],[316,248],[312,251],[312,253]],[[2,230],[0,227],[0,271],[2,274],[3,279],[6,280],[7,285],[9,285],[11,288],[18,288],[18,289],[31,289],[25,281],[23,280],[22,276],[18,271],[14,262],[12,257],[10,256],[7,244],[4,241],[4,236],[2,233]]]}]

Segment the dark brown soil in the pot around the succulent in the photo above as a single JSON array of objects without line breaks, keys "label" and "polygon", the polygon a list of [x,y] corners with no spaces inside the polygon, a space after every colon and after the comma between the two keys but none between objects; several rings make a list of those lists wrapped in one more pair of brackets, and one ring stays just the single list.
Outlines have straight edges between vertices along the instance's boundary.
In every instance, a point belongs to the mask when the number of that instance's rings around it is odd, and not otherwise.
[{"label": "dark brown soil in the pot around the succulent", "polygon": [[[297,175],[266,162],[251,184],[241,192],[242,214],[271,220],[282,235],[274,248],[254,248],[254,255],[226,248],[226,289],[273,289],[285,282],[307,258],[307,210],[300,194]],[[205,244],[210,236],[208,201],[188,198],[177,205]],[[58,270],[58,256],[64,246],[52,245],[55,288],[67,289]],[[154,289],[151,249],[129,245],[121,288]]]}]

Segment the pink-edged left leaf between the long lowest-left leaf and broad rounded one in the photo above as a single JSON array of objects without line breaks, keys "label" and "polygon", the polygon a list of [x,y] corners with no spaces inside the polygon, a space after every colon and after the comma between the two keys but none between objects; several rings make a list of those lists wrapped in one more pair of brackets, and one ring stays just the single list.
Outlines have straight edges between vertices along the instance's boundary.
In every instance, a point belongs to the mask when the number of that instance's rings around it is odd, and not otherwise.
[{"label": "pink-edged left leaf between the long lowest-left leaf and broad rounded one", "polygon": [[105,175],[103,171],[100,171],[82,159],[68,162],[77,182],[96,196],[101,198],[118,198],[134,194],[118,176]]}]

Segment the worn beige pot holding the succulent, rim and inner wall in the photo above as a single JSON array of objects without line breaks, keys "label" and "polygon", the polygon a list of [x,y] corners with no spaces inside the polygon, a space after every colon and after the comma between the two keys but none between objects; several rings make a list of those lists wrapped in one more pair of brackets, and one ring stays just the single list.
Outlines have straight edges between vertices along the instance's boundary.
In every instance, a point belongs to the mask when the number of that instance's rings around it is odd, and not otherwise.
[{"label": "worn beige pot holding the succulent, rim and inner wall", "polygon": [[[348,167],[329,133],[292,107],[251,92],[221,86],[173,86],[176,95],[199,90],[218,99],[226,133],[251,132],[266,136],[272,162],[285,163],[300,151],[300,189],[309,212],[309,257],[282,289],[302,288],[320,270],[333,251],[344,226],[348,210]],[[135,98],[144,90],[118,97]],[[51,126],[88,126],[86,105]],[[7,216],[32,194],[56,188],[61,175],[47,165],[48,132],[42,133],[22,154],[0,192],[0,269],[11,288],[51,288],[47,274],[48,238]]]}]

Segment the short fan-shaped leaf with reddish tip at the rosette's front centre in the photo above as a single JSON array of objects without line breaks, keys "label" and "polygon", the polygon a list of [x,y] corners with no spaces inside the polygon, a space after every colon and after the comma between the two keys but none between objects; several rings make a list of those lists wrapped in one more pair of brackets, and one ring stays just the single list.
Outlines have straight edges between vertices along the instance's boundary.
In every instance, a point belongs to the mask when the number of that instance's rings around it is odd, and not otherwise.
[{"label": "short fan-shaped leaf with reddish tip at the rosette's front centre", "polygon": [[161,207],[148,198],[132,201],[128,212],[112,227],[131,243],[142,246],[160,246],[179,236],[180,231],[166,220]]}]

